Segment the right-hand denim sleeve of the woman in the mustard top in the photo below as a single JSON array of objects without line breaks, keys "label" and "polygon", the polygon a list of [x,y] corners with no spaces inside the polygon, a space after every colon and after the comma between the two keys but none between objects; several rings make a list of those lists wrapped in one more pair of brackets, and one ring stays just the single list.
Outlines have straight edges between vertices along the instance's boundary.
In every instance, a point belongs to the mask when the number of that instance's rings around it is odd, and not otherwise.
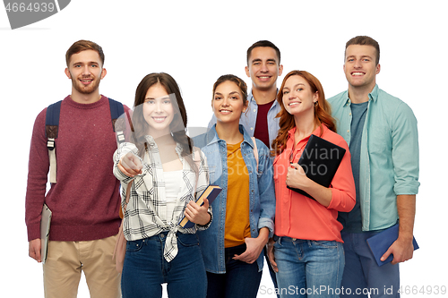
[{"label": "right-hand denim sleeve of the woman in the mustard top", "polygon": [[260,217],[258,230],[262,227],[269,229],[269,237],[274,233],[275,216],[275,190],[273,181],[272,160],[269,157],[269,149],[261,140],[256,140],[258,150],[258,193],[260,196]]}]

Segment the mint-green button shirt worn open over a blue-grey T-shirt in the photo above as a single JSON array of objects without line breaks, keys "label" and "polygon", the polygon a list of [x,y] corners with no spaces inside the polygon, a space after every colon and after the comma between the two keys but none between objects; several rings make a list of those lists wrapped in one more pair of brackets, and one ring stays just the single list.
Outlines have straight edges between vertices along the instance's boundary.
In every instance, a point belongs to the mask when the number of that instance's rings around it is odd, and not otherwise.
[{"label": "mint-green button shirt worn open over a blue-grey T-shirt", "polygon": [[[417,119],[408,105],[375,85],[361,140],[359,192],[363,231],[393,226],[397,195],[418,193]],[[350,143],[349,92],[328,99],[338,133]]]}]

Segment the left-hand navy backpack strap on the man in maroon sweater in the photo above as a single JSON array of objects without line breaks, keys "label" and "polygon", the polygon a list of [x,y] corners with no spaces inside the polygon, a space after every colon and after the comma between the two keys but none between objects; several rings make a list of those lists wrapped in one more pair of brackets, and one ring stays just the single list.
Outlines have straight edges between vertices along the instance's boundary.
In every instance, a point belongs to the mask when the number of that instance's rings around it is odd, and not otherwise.
[{"label": "left-hand navy backpack strap on the man in maroon sweater", "polygon": [[47,137],[48,158],[50,162],[50,183],[56,183],[56,138],[59,128],[59,114],[62,100],[49,105],[45,115],[45,135]]}]

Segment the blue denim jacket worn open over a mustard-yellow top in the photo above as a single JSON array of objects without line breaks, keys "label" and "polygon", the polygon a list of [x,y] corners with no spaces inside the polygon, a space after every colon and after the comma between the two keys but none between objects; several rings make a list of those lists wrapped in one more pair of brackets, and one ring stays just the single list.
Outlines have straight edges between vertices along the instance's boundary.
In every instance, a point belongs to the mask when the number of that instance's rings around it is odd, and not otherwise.
[{"label": "blue denim jacket worn open over a mustard-yellow top", "polygon": [[[250,188],[250,228],[251,237],[256,238],[262,227],[269,229],[269,236],[274,231],[275,215],[275,191],[272,175],[272,161],[269,149],[261,140],[256,140],[258,151],[258,171],[256,171],[256,160],[254,158],[254,143],[243,125],[239,125],[239,131],[243,133],[244,140],[241,143],[241,154],[246,163],[249,173]],[[210,183],[220,185],[222,192],[212,203],[213,222],[205,230],[198,232],[201,243],[202,256],[205,269],[211,273],[226,273],[224,260],[224,228],[226,221],[227,203],[227,144],[221,140],[216,132],[216,125],[194,139],[194,146],[201,148],[207,157],[209,166]],[[263,253],[257,259],[258,270],[263,269]]]}]

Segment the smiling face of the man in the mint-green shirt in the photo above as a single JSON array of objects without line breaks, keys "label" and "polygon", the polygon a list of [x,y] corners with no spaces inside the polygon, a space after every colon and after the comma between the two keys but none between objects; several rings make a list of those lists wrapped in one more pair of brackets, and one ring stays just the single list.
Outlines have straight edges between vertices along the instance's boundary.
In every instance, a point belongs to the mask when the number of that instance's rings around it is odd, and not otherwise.
[{"label": "smiling face of the man in the mint-green shirt", "polygon": [[349,81],[349,88],[374,89],[375,76],[380,72],[376,64],[376,49],[372,46],[351,45],[345,52],[344,72]]}]

